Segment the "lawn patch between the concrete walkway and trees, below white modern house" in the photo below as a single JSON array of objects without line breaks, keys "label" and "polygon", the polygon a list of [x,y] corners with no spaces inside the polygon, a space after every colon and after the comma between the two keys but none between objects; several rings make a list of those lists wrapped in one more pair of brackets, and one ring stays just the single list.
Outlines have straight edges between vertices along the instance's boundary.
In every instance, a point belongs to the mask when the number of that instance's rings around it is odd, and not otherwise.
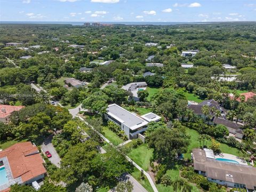
[{"label": "lawn patch between the concrete walkway and trees, below white modern house", "polygon": [[153,149],[149,149],[146,143],[132,149],[127,156],[129,156],[135,163],[137,163],[143,170],[148,171],[150,158],[153,155]]}]

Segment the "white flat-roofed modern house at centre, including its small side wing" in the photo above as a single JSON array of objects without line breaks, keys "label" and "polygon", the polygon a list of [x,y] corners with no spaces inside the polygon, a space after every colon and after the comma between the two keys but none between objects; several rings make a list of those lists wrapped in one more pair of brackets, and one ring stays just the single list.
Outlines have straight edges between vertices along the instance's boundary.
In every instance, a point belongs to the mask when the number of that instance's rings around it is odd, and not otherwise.
[{"label": "white flat-roofed modern house at centre, including its small side wing", "polygon": [[[153,113],[145,114],[144,116],[146,118],[135,115],[115,103],[108,106],[105,114],[106,119],[121,126],[128,139],[138,138],[138,134],[147,130],[147,124],[150,121],[157,122],[161,118]],[[150,119],[150,121],[147,121],[147,119]]]}]

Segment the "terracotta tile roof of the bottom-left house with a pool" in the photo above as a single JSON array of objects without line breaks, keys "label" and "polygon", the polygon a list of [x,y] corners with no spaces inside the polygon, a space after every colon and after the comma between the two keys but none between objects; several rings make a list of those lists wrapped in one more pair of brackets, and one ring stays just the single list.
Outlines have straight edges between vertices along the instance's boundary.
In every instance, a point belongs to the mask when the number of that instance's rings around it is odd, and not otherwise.
[{"label": "terracotta tile roof of the bottom-left house with a pool", "polygon": [[43,159],[31,142],[17,143],[7,148],[0,152],[1,157],[7,157],[13,178],[21,177],[23,182],[46,173]]}]

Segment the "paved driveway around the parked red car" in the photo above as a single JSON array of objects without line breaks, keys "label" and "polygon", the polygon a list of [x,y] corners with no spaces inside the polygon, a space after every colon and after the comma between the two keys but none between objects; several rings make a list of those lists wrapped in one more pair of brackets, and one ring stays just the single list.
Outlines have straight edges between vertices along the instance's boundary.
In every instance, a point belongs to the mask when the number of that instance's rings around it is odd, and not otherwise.
[{"label": "paved driveway around the parked red car", "polygon": [[42,151],[45,153],[45,151],[50,151],[52,154],[52,157],[49,158],[52,164],[56,165],[57,167],[60,167],[60,157],[57,154],[57,151],[52,145],[52,138],[53,135],[50,135],[48,138],[46,138],[43,142],[43,145],[41,145]]}]

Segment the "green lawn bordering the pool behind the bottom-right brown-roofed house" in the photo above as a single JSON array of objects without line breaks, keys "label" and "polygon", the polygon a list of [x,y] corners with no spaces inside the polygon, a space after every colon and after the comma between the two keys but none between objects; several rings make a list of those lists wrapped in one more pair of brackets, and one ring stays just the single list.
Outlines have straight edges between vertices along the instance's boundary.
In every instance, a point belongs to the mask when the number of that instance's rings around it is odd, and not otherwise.
[{"label": "green lawn bordering the pool behind the bottom-right brown-roofed house", "polygon": [[[191,155],[190,153],[192,152],[192,149],[194,148],[198,148],[199,147],[199,141],[197,141],[197,138],[199,136],[199,133],[195,130],[186,128],[187,134],[190,135],[190,145],[188,147],[188,152],[186,154],[184,154],[184,158],[190,158]],[[207,141],[207,143],[205,142],[205,145],[210,146],[211,145],[211,141]],[[201,145],[203,145],[203,143],[201,143]],[[228,145],[221,143],[220,145],[220,150],[222,153],[227,153],[227,154],[232,154],[232,155],[236,155],[236,156],[240,156],[239,150],[237,148],[233,148],[233,147],[229,147]]]}]

